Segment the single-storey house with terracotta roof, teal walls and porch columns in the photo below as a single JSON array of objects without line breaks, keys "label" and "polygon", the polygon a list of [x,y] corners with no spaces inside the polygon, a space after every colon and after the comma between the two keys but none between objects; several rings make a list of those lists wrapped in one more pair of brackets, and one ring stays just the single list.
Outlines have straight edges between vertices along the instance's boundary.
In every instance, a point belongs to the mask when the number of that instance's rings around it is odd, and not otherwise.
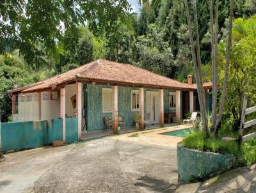
[{"label": "single-storey house with terracotta roof, teal walls and porch columns", "polygon": [[145,114],[150,115],[148,124],[163,126],[164,116],[171,113],[179,124],[188,112],[199,110],[192,83],[191,75],[187,84],[134,65],[98,59],[8,93],[12,96],[13,121],[61,118],[65,141],[68,117],[77,117],[79,139],[84,127],[88,132],[103,130],[104,117],[112,118],[116,134],[118,115],[129,127],[134,124],[133,112],[141,115],[141,127]]}]

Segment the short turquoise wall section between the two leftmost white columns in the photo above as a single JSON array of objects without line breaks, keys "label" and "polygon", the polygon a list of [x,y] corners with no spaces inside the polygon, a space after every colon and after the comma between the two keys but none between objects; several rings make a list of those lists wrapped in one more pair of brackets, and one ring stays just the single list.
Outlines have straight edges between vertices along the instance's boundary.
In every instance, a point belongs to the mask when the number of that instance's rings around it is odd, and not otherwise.
[{"label": "short turquoise wall section between the two leftmost white columns", "polygon": [[77,118],[66,118],[66,143],[77,141],[78,139],[78,120]]}]

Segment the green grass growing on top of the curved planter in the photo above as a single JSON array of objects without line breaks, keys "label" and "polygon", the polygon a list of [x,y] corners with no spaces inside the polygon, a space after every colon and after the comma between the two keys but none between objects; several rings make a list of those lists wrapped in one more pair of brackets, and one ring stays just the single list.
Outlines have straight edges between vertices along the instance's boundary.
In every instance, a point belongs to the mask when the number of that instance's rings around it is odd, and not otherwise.
[{"label": "green grass growing on top of the curved planter", "polygon": [[182,144],[190,149],[234,156],[241,166],[256,163],[256,139],[246,141],[246,143],[242,144],[241,149],[239,149],[236,141],[223,141],[222,137],[233,137],[237,139],[238,132],[220,130],[216,138],[213,134],[209,138],[206,138],[205,132],[202,131],[193,132],[184,138]]}]

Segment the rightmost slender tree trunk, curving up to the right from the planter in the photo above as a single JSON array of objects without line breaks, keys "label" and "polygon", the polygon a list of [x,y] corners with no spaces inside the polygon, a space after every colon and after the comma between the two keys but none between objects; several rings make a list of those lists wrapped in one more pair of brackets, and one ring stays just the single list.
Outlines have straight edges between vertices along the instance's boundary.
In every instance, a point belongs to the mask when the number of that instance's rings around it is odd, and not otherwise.
[{"label": "rightmost slender tree trunk, curving up to the right from the planter", "polygon": [[232,39],[233,17],[234,17],[234,0],[230,0],[230,12],[229,12],[229,22],[228,22],[228,43],[227,43],[227,56],[226,56],[226,63],[225,63],[225,75],[224,75],[224,82],[223,82],[223,87],[222,87],[220,111],[218,113],[218,117],[217,117],[216,124],[215,124],[215,127],[214,127],[215,137],[218,136],[218,126],[219,126],[220,121],[221,121],[221,117],[222,117],[223,109],[224,109],[224,103],[225,103],[227,80],[228,80],[228,66],[229,66],[229,61],[230,61],[230,49],[231,49],[231,39]]}]

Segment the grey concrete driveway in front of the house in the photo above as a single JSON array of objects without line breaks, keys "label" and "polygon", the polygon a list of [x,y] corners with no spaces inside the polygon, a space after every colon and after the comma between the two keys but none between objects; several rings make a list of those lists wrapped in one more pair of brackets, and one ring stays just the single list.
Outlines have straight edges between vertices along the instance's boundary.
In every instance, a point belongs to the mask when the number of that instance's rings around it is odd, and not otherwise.
[{"label": "grey concrete driveway in front of the house", "polygon": [[223,181],[177,181],[176,144],[182,138],[159,134],[177,128],[7,154],[0,192],[226,192],[218,185]]}]

